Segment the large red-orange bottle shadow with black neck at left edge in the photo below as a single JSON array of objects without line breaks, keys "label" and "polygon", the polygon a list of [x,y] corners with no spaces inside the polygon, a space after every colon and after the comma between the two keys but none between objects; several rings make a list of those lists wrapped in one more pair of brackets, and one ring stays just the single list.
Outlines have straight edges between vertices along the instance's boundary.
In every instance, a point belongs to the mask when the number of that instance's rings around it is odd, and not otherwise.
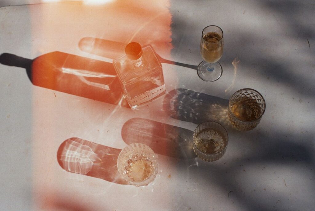
[{"label": "large red-orange bottle shadow with black neck at left edge", "polygon": [[35,86],[129,108],[112,63],[59,51],[33,60],[3,53],[0,63],[25,68]]}]

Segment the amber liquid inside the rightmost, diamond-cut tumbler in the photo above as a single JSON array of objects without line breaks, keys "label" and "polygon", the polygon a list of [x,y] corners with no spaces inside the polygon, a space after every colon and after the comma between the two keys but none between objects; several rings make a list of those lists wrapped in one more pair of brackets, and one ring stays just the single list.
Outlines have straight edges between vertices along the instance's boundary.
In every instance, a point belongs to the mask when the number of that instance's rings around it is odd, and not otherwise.
[{"label": "amber liquid inside the rightmost, diamond-cut tumbler", "polygon": [[260,104],[250,97],[240,97],[232,103],[231,111],[241,121],[254,121],[260,115]]}]

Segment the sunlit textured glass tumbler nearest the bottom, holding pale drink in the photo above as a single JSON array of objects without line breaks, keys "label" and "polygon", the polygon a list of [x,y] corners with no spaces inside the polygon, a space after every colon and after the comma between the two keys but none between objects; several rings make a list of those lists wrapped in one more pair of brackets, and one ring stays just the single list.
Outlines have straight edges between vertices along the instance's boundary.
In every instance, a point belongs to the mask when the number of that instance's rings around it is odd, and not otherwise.
[{"label": "sunlit textured glass tumbler nearest the bottom, holding pale drink", "polygon": [[157,175],[157,155],[145,144],[132,143],[119,153],[117,168],[131,185],[146,186]]}]

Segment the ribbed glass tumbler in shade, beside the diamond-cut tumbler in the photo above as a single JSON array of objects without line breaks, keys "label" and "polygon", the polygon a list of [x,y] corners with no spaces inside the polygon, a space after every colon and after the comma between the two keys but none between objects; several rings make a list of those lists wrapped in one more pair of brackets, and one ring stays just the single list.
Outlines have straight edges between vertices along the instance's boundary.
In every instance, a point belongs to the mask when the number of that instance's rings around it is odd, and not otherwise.
[{"label": "ribbed glass tumbler in shade, beside the diamond-cut tumbler", "polygon": [[205,161],[220,159],[226,151],[228,135],[216,122],[204,122],[197,126],[193,135],[193,150]]}]

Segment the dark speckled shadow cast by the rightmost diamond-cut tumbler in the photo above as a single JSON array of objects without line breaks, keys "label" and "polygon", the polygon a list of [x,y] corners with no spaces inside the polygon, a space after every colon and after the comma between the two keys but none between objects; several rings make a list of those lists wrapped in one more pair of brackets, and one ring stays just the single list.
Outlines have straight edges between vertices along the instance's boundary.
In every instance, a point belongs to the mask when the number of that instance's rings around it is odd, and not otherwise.
[{"label": "dark speckled shadow cast by the rightmost diamond-cut tumbler", "polygon": [[228,106],[227,99],[182,88],[167,93],[163,101],[164,111],[174,119],[197,125],[214,121],[225,128],[232,128]]}]

